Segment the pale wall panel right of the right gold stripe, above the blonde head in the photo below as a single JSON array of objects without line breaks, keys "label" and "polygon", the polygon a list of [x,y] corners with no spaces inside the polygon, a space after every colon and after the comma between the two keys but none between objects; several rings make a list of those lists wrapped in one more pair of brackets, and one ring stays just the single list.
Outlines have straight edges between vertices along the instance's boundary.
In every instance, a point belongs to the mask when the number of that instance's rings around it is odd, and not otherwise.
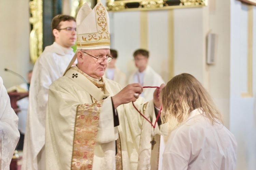
[{"label": "pale wall panel right of the right gold stripe, above the blonde head", "polygon": [[202,15],[202,7],[174,10],[174,75],[186,72],[200,82],[205,56]]}]

